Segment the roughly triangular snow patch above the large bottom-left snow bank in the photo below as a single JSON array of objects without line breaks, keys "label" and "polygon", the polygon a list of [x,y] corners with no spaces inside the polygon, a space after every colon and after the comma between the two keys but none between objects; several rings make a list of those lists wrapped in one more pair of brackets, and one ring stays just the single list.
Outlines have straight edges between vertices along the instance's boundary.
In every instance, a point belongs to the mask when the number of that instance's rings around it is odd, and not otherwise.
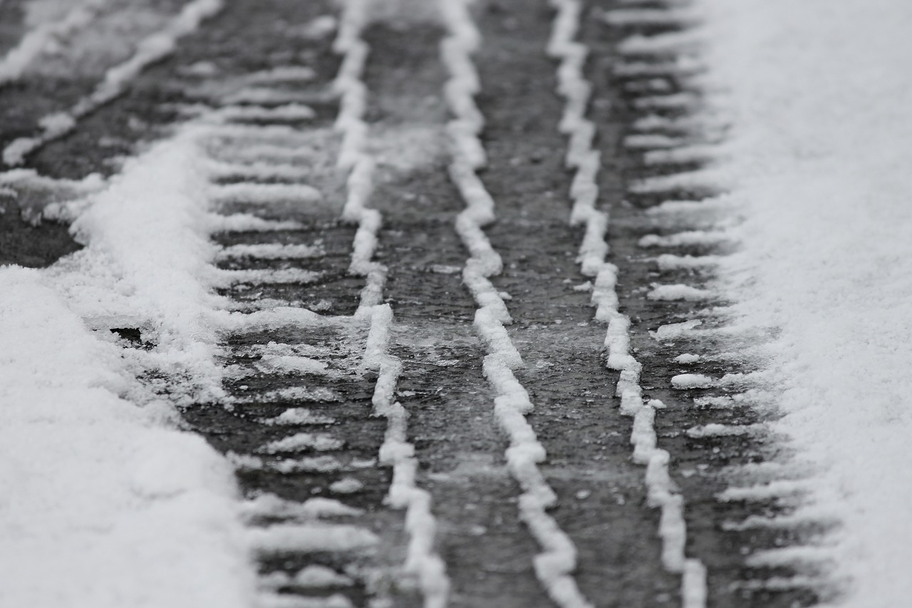
[{"label": "roughly triangular snow patch above the large bottom-left snow bank", "polygon": [[128,162],[90,197],[73,230],[88,246],[47,270],[68,306],[96,328],[136,328],[155,344],[147,366],[192,378],[186,398],[221,394],[212,362],[220,329],[212,295],[202,135],[189,128]]}]

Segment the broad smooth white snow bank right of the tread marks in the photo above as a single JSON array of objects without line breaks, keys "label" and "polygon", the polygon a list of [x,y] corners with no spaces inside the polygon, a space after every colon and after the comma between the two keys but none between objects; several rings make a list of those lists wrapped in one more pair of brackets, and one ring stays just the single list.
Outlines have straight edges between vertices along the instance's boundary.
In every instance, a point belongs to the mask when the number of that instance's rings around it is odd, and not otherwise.
[{"label": "broad smooth white snow bank right of the tread marks", "polygon": [[[738,310],[778,326],[785,417],[844,521],[841,602],[912,596],[912,4],[699,0],[746,204],[724,264]],[[818,500],[819,501],[819,500]]]}]

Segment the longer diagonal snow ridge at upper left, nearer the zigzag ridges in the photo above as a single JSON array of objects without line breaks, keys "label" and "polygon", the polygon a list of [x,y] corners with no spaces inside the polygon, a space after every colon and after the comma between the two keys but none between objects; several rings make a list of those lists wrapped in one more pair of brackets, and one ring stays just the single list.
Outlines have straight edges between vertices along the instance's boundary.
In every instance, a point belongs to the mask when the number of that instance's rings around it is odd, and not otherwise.
[{"label": "longer diagonal snow ridge at upper left, nearer the zigzag ridges", "polygon": [[8,144],[3,151],[3,161],[8,165],[22,164],[31,152],[73,131],[80,119],[122,94],[130,80],[139,76],[143,69],[170,55],[178,38],[195,31],[203,19],[214,16],[222,8],[223,0],[192,0],[178,16],[171,19],[168,26],[140,40],[132,57],[109,68],[88,97],[79,100],[67,111],[48,114],[38,121],[41,126],[39,135],[20,137]]}]

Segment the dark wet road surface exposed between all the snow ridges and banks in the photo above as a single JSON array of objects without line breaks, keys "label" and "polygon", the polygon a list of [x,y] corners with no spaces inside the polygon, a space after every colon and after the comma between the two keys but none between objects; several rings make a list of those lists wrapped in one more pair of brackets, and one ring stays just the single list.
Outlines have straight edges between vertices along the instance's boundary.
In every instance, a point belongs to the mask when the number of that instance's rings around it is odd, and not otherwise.
[{"label": "dark wet road surface exposed between all the snow ridges and banks", "polygon": [[[135,3],[134,13],[142,4]],[[173,13],[181,4],[171,0],[156,10]],[[631,13],[630,3],[597,0],[581,5],[576,34],[588,47],[586,116],[601,154],[596,207],[610,217],[606,259],[617,267],[618,310],[631,321],[630,351],[642,365],[643,397],[664,404],[655,410],[658,446],[670,455],[671,487],[683,499],[684,552],[707,569],[705,603],[682,596],[680,571],[663,561],[668,539],[659,530],[667,522],[648,499],[647,467],[633,459],[634,419],[620,411],[618,372],[606,365],[606,326],[594,319],[593,278],[577,260],[584,229],[569,222],[575,173],[565,167],[568,138],[558,129],[565,110],[557,90],[560,62],[545,52],[559,4],[480,1],[471,15],[482,40],[472,61],[487,153],[477,173],[496,215],[483,232],[503,259],[503,270],[490,281],[513,320],[504,327],[523,358],[513,373],[534,405],[526,420],[547,454],[538,464],[556,498],[547,512],[575,546],[571,577],[599,607],[812,605],[817,593],[793,578],[807,572],[756,556],[824,530],[765,525],[787,514],[788,497],[730,492],[720,498],[728,488],[786,475],[775,463],[787,455],[762,429],[774,407],[751,393],[750,375],[710,387],[672,383],[682,373],[719,379],[756,371],[747,355],[732,354],[744,342],[724,331],[725,302],[712,290],[711,265],[658,263],[660,254],[728,252],[725,243],[705,238],[676,244],[675,235],[706,227],[707,216],[699,209],[658,207],[713,193],[680,185],[644,192],[637,185],[701,166],[699,155],[657,163],[648,159],[650,152],[690,149],[718,136],[687,120],[699,107],[700,89],[694,71],[675,63],[684,47],[637,54],[623,45],[634,35],[686,33],[688,24],[662,2],[634,3]],[[26,5],[0,5],[0,53],[28,31]],[[115,12],[130,16],[130,10],[130,3],[111,0],[102,16],[113,20]],[[224,167],[215,183],[252,186],[213,201],[213,208],[297,224],[213,234],[224,247],[217,265],[238,271],[221,293],[238,310],[288,306],[313,310],[322,321],[277,320],[224,335],[226,397],[183,404],[181,412],[194,432],[237,463],[245,496],[288,501],[284,507],[263,501],[263,510],[251,517],[264,536],[292,526],[287,521],[299,523],[295,505],[314,506],[306,502],[313,498],[336,500],[321,517],[350,532],[347,545],[264,542],[261,579],[274,602],[264,605],[432,605],[432,586],[402,571],[410,532],[403,511],[390,504],[393,471],[380,456],[389,420],[372,403],[378,369],[364,358],[377,321],[373,313],[361,313],[381,304],[393,314],[387,349],[401,362],[396,399],[409,414],[415,487],[430,494],[437,523],[431,552],[445,564],[449,605],[584,605],[549,597],[546,577],[535,570],[542,548],[520,517],[524,488],[505,461],[509,443],[494,411],[497,393],[482,370],[488,346],[473,324],[478,305],[463,282],[470,252],[455,229],[466,202],[449,171],[453,108],[444,89],[452,74],[440,50],[448,23],[432,3],[378,1],[368,3],[358,32],[369,47],[358,75],[367,90],[364,149],[376,163],[366,206],[382,217],[372,261],[384,268],[382,280],[373,283],[382,293],[366,307],[361,291],[373,279],[350,267],[359,226],[357,219],[343,218],[351,183],[337,166],[342,109],[333,82],[344,56],[333,43],[341,10],[328,0],[228,2],[119,97],[26,157],[24,168],[53,179],[45,187],[21,183],[16,197],[0,195],[0,263],[42,267],[78,248],[66,225],[34,221],[36,210],[67,198],[62,180],[116,173],[122,157],[167,137],[192,116],[264,110],[237,113],[207,142],[212,161]],[[134,27],[154,29],[156,23],[137,21]],[[77,45],[74,40],[103,25],[98,17],[60,44]],[[122,31],[119,36],[112,40],[127,44]],[[80,69],[67,69],[65,51],[39,56],[39,68],[0,85],[0,147],[35,134],[41,117],[72,107],[119,59],[114,44],[107,53],[89,55],[96,63]],[[275,68],[312,73],[262,76]],[[686,102],[682,95],[689,96]],[[306,106],[312,115],[268,111],[288,103]],[[319,199],[275,190],[263,204],[262,196],[245,194],[265,192],[264,184],[307,184]],[[664,299],[657,297],[660,285],[705,291]],[[699,320],[699,330],[655,334],[688,320]],[[139,332],[120,332],[135,339],[132,347],[154,348],[142,344]],[[751,336],[747,343],[762,340]],[[699,358],[676,360],[684,353]],[[302,433],[309,438],[275,443]],[[314,565],[336,572],[336,579],[316,584],[294,578]]]}]

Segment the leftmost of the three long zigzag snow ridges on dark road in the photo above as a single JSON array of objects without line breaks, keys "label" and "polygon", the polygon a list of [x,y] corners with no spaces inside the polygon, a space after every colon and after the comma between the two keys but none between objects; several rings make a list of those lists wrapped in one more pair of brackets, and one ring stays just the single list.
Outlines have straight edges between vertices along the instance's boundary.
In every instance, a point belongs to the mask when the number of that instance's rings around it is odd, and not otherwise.
[{"label": "leftmost of the three long zigzag snow ridges on dark road", "polygon": [[361,38],[367,22],[368,0],[347,0],[340,19],[334,50],[343,56],[334,89],[341,95],[336,129],[342,132],[338,167],[348,171],[347,200],[342,218],[357,222],[354,251],[348,271],[367,277],[361,290],[356,318],[369,317],[370,330],[364,354],[364,368],[378,372],[372,404],[374,414],[387,419],[379,461],[393,467],[389,505],[406,509],[409,549],[403,570],[417,576],[425,608],[444,608],[450,595],[446,564],[434,550],[437,521],[431,512],[430,493],[416,486],[418,460],[415,446],[407,439],[409,413],[396,401],[396,385],[402,362],[389,354],[389,331],[393,310],[382,304],[387,267],[372,261],[382,216],[369,208],[374,161],[364,151],[368,125],[364,121],[368,90],[361,75],[368,58],[368,44]]}]

